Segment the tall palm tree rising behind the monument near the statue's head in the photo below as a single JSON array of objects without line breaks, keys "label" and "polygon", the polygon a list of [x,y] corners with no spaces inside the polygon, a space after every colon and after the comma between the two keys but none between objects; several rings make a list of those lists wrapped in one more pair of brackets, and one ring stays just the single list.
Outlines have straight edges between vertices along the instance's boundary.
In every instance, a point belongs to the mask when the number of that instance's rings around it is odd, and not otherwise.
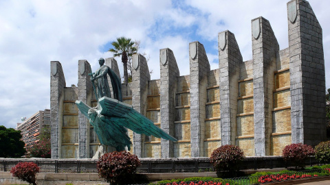
[{"label": "tall palm tree rising behind the monument near the statue's head", "polygon": [[128,56],[132,56],[133,53],[136,53],[136,48],[133,47],[134,42],[131,41],[131,38],[119,37],[117,41],[111,43],[114,49],[109,49],[113,53],[113,57],[122,56],[122,64],[124,64],[124,83],[129,82],[129,74],[127,73],[127,60]]}]

